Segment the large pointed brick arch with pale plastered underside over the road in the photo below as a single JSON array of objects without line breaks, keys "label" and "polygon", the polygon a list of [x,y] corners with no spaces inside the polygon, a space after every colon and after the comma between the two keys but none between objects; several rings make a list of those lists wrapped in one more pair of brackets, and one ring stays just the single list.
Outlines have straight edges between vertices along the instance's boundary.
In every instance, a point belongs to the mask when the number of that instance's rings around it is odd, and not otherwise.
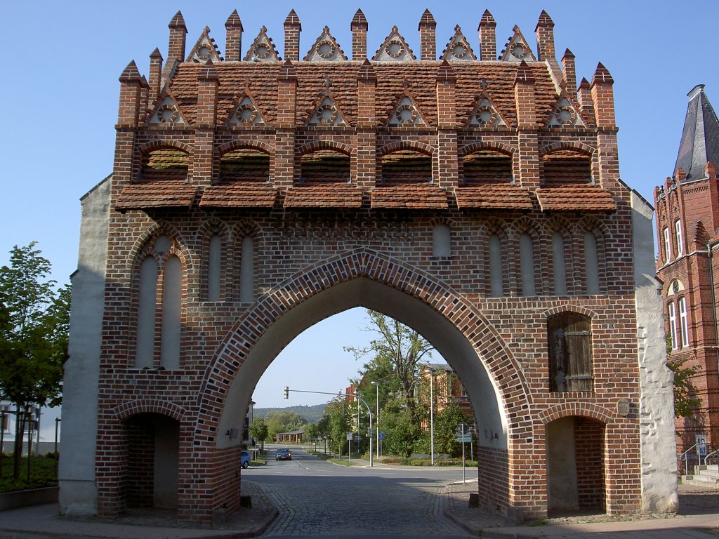
[{"label": "large pointed brick arch with pale plastered underside over the road", "polygon": [[[480,439],[480,474],[485,502],[510,507],[513,481],[520,473],[512,455],[526,455],[531,421],[521,413],[532,406],[523,373],[491,323],[464,298],[438,280],[368,249],[307,267],[261,298],[232,328],[206,371],[199,399],[218,418],[196,423],[197,440],[214,439],[219,455],[233,459],[236,446],[221,436],[239,428],[262,373],[293,338],[314,323],[358,305],[379,310],[419,331],[452,365],[467,388],[480,430],[498,433]],[[499,378],[493,373],[502,373]],[[318,382],[320,383],[320,382]],[[221,389],[220,389],[221,388]],[[510,418],[519,418],[513,419]],[[511,434],[511,437],[510,437]],[[495,474],[500,480],[495,481]],[[231,484],[217,485],[221,499]]]}]

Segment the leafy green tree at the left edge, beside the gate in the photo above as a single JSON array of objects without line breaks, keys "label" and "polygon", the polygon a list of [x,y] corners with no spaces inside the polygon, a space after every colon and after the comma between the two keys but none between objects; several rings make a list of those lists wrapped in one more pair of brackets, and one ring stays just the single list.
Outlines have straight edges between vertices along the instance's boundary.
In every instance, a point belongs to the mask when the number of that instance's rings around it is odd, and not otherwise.
[{"label": "leafy green tree at the left edge, beside the gate", "polygon": [[[70,289],[49,279],[50,262],[35,249],[15,246],[0,267],[0,396],[17,418],[33,406],[58,405],[68,356]],[[19,476],[22,420],[16,421],[14,477]]]}]

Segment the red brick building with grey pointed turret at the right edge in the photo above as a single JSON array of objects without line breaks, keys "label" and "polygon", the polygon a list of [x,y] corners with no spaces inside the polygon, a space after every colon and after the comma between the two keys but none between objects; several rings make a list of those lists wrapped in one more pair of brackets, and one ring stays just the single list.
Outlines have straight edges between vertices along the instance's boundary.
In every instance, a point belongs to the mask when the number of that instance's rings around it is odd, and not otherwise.
[{"label": "red brick building with grey pointed turret at the right edge", "polygon": [[700,405],[677,420],[680,452],[701,441],[719,448],[719,119],[703,85],[688,95],[674,172],[654,190],[669,359],[697,369]]}]

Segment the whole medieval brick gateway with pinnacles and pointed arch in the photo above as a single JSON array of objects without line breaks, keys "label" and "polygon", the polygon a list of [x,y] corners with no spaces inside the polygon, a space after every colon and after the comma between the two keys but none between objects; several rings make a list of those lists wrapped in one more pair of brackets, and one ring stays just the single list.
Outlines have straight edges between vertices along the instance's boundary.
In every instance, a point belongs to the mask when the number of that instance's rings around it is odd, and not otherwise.
[{"label": "whole medieval brick gateway with pinnacles and pointed arch", "polygon": [[[60,504],[112,517],[239,507],[257,380],[301,331],[362,305],[416,328],[467,387],[482,505],[676,506],[672,375],[652,208],[618,177],[613,80],[577,87],[542,11],[537,54],[497,54],[480,18],[439,60],[394,27],[368,60],[329,28],[285,60],[226,22],[120,76],[111,176],[83,197],[63,405]],[[321,379],[321,373],[318,373]]]}]

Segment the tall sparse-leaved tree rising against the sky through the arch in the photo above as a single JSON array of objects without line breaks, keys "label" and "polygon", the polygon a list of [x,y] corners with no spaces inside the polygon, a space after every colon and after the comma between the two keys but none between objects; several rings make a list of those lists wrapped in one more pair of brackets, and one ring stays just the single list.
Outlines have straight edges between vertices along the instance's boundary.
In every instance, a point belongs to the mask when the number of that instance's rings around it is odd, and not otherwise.
[{"label": "tall sparse-leaved tree rising against the sky through the arch", "polygon": [[419,423],[416,410],[417,366],[424,356],[431,356],[432,346],[419,333],[394,318],[375,310],[367,310],[367,315],[370,318],[367,329],[377,333],[378,337],[370,341],[368,348],[346,346],[345,350],[352,352],[355,359],[372,354],[365,367],[372,366],[377,374],[392,373],[410,422]]}]

